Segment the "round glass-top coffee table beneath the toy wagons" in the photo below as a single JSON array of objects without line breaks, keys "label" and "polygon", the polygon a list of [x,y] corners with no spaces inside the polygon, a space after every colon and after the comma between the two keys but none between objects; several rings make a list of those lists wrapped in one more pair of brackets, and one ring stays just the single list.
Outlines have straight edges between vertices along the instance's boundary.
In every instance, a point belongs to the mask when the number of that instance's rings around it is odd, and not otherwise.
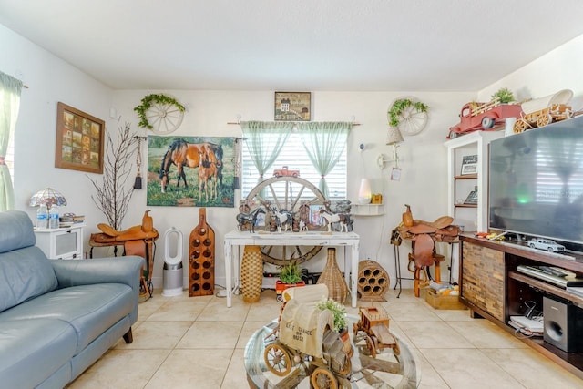
[{"label": "round glass-top coffee table beneath the toy wagons", "polygon": [[[358,322],[359,318],[355,315],[347,315],[349,328],[353,328],[353,323]],[[288,374],[273,374],[272,370],[265,363],[265,349],[278,351],[276,337],[273,336],[274,329],[278,322],[274,320],[264,325],[260,330],[253,333],[245,347],[245,371],[247,381],[251,388],[312,388],[311,375],[306,367],[310,362],[292,363],[292,360],[286,360],[289,356],[283,356],[282,363],[293,365],[291,370],[286,367],[284,370]],[[416,388],[421,382],[421,374],[418,364],[415,363],[414,355],[409,347],[401,340],[395,337],[398,344],[398,355],[395,355],[391,348],[384,349],[377,353],[373,358],[367,349],[366,339],[359,332],[356,339],[353,332],[349,331],[350,342],[353,344],[353,356],[350,361],[351,370],[346,374],[346,378],[335,380],[330,378],[331,384],[322,385],[321,388]],[[356,344],[354,341],[356,340]],[[280,355],[281,356],[281,355]],[[273,360],[271,359],[271,363]],[[283,372],[285,373],[285,372]],[[328,373],[330,374],[330,373]],[[323,374],[326,375],[326,374]]]}]

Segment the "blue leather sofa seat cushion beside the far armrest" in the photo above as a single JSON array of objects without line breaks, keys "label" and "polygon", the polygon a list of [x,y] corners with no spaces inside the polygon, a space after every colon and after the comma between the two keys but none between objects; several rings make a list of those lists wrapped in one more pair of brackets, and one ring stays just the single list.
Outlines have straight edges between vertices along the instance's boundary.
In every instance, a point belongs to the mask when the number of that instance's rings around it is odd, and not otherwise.
[{"label": "blue leather sofa seat cushion beside the far armrest", "polygon": [[135,305],[132,289],[121,283],[72,286],[48,292],[0,313],[0,321],[58,319],[69,322],[77,334],[80,353]]}]

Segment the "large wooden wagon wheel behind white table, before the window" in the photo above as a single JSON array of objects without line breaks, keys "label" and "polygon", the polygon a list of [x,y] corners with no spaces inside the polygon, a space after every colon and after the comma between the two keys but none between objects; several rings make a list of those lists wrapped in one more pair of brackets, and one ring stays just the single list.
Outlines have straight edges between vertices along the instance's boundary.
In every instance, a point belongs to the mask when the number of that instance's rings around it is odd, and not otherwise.
[{"label": "large wooden wagon wheel behind white table, before the window", "polygon": [[[322,205],[326,199],[320,191],[310,181],[297,177],[273,177],[266,179],[251,189],[247,195],[248,203],[265,204],[270,203],[271,207],[278,210],[288,210],[292,213],[299,213],[302,204]],[[268,211],[265,217],[266,224],[271,220]],[[265,246],[261,247],[263,261],[285,266],[289,261],[300,264],[312,259],[322,246]]]}]

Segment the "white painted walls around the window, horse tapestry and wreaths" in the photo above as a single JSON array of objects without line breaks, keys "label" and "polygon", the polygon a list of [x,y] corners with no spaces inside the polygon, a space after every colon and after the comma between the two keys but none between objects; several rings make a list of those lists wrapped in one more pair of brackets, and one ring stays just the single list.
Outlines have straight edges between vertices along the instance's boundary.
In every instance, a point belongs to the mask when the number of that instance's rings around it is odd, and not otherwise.
[{"label": "white painted walls around the window, horse tapestry and wreaths", "polygon": [[[15,196],[16,208],[26,210],[31,216],[34,209],[27,201],[38,189],[47,186],[64,193],[68,205],[64,211],[85,214],[87,229],[85,250],[90,232],[97,231],[97,223],[105,222],[103,215],[90,199],[94,193],[86,173],[54,168],[56,139],[56,103],[63,101],[97,118],[106,120],[107,130],[116,130],[118,118],[109,118],[110,107],[115,107],[122,123],[128,121],[132,128],[141,131],[133,107],[148,93],[167,92],[188,107],[181,127],[175,135],[240,136],[239,126],[228,125],[242,120],[271,120],[273,118],[273,91],[112,91],[71,67],[44,49],[35,46],[14,32],[0,26],[0,70],[22,79],[30,88],[23,90],[19,121],[15,135]],[[499,87],[510,87],[520,97],[541,97],[568,87],[581,101],[583,83],[579,74],[583,36],[557,48],[548,56],[541,57],[527,67],[486,87],[478,99],[488,99]],[[422,133],[405,137],[399,153],[403,174],[400,181],[389,179],[388,169],[376,166],[380,153],[391,154],[384,144],[387,131],[386,110],[396,97],[415,96],[430,107],[429,121]],[[529,96],[530,95],[530,96]],[[398,225],[404,204],[410,204],[414,218],[435,220],[447,211],[446,153],[443,143],[448,128],[457,120],[460,107],[476,99],[474,93],[408,93],[404,92],[320,92],[312,91],[313,120],[351,120],[361,123],[349,138],[348,158],[351,161],[349,197],[356,198],[362,177],[372,179],[373,192],[384,195],[384,215],[356,217],[354,230],[361,235],[361,259],[378,261],[388,271],[394,284],[394,254],[389,243],[391,230]],[[359,144],[365,144],[360,151]],[[144,169],[145,171],[145,169]],[[97,177],[97,176],[92,176]],[[239,199],[235,200],[237,204]],[[146,207],[146,190],[137,190],[124,228],[139,224]],[[151,207],[155,227],[160,234],[176,227],[185,235],[184,252],[188,253],[189,233],[198,224],[196,208]],[[224,284],[222,237],[235,227],[237,209],[211,208],[207,219],[216,232],[216,282]],[[406,272],[406,254],[409,245],[401,246],[402,273]],[[98,252],[97,252],[98,251]],[[96,254],[107,255],[110,251],[96,249]],[[162,284],[164,242],[158,241],[154,283]],[[185,272],[188,258],[184,259]],[[322,268],[323,258],[307,263],[310,268]],[[447,274],[445,272],[445,277]],[[404,282],[411,286],[410,282]]]}]

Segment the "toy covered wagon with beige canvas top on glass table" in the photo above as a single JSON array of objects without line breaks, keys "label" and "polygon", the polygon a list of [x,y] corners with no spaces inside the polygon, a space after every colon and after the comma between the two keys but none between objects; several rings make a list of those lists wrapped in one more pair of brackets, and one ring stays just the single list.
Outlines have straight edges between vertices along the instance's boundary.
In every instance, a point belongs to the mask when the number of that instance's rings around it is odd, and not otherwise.
[{"label": "toy covered wagon with beige canvas top on glass table", "polygon": [[[267,368],[285,377],[278,387],[295,387],[303,379],[302,371],[313,388],[350,387],[351,360],[333,330],[332,312],[320,310],[313,302],[292,299],[285,302],[279,326],[266,340],[271,342],[263,352]],[[298,365],[302,369],[292,371]]]}]

